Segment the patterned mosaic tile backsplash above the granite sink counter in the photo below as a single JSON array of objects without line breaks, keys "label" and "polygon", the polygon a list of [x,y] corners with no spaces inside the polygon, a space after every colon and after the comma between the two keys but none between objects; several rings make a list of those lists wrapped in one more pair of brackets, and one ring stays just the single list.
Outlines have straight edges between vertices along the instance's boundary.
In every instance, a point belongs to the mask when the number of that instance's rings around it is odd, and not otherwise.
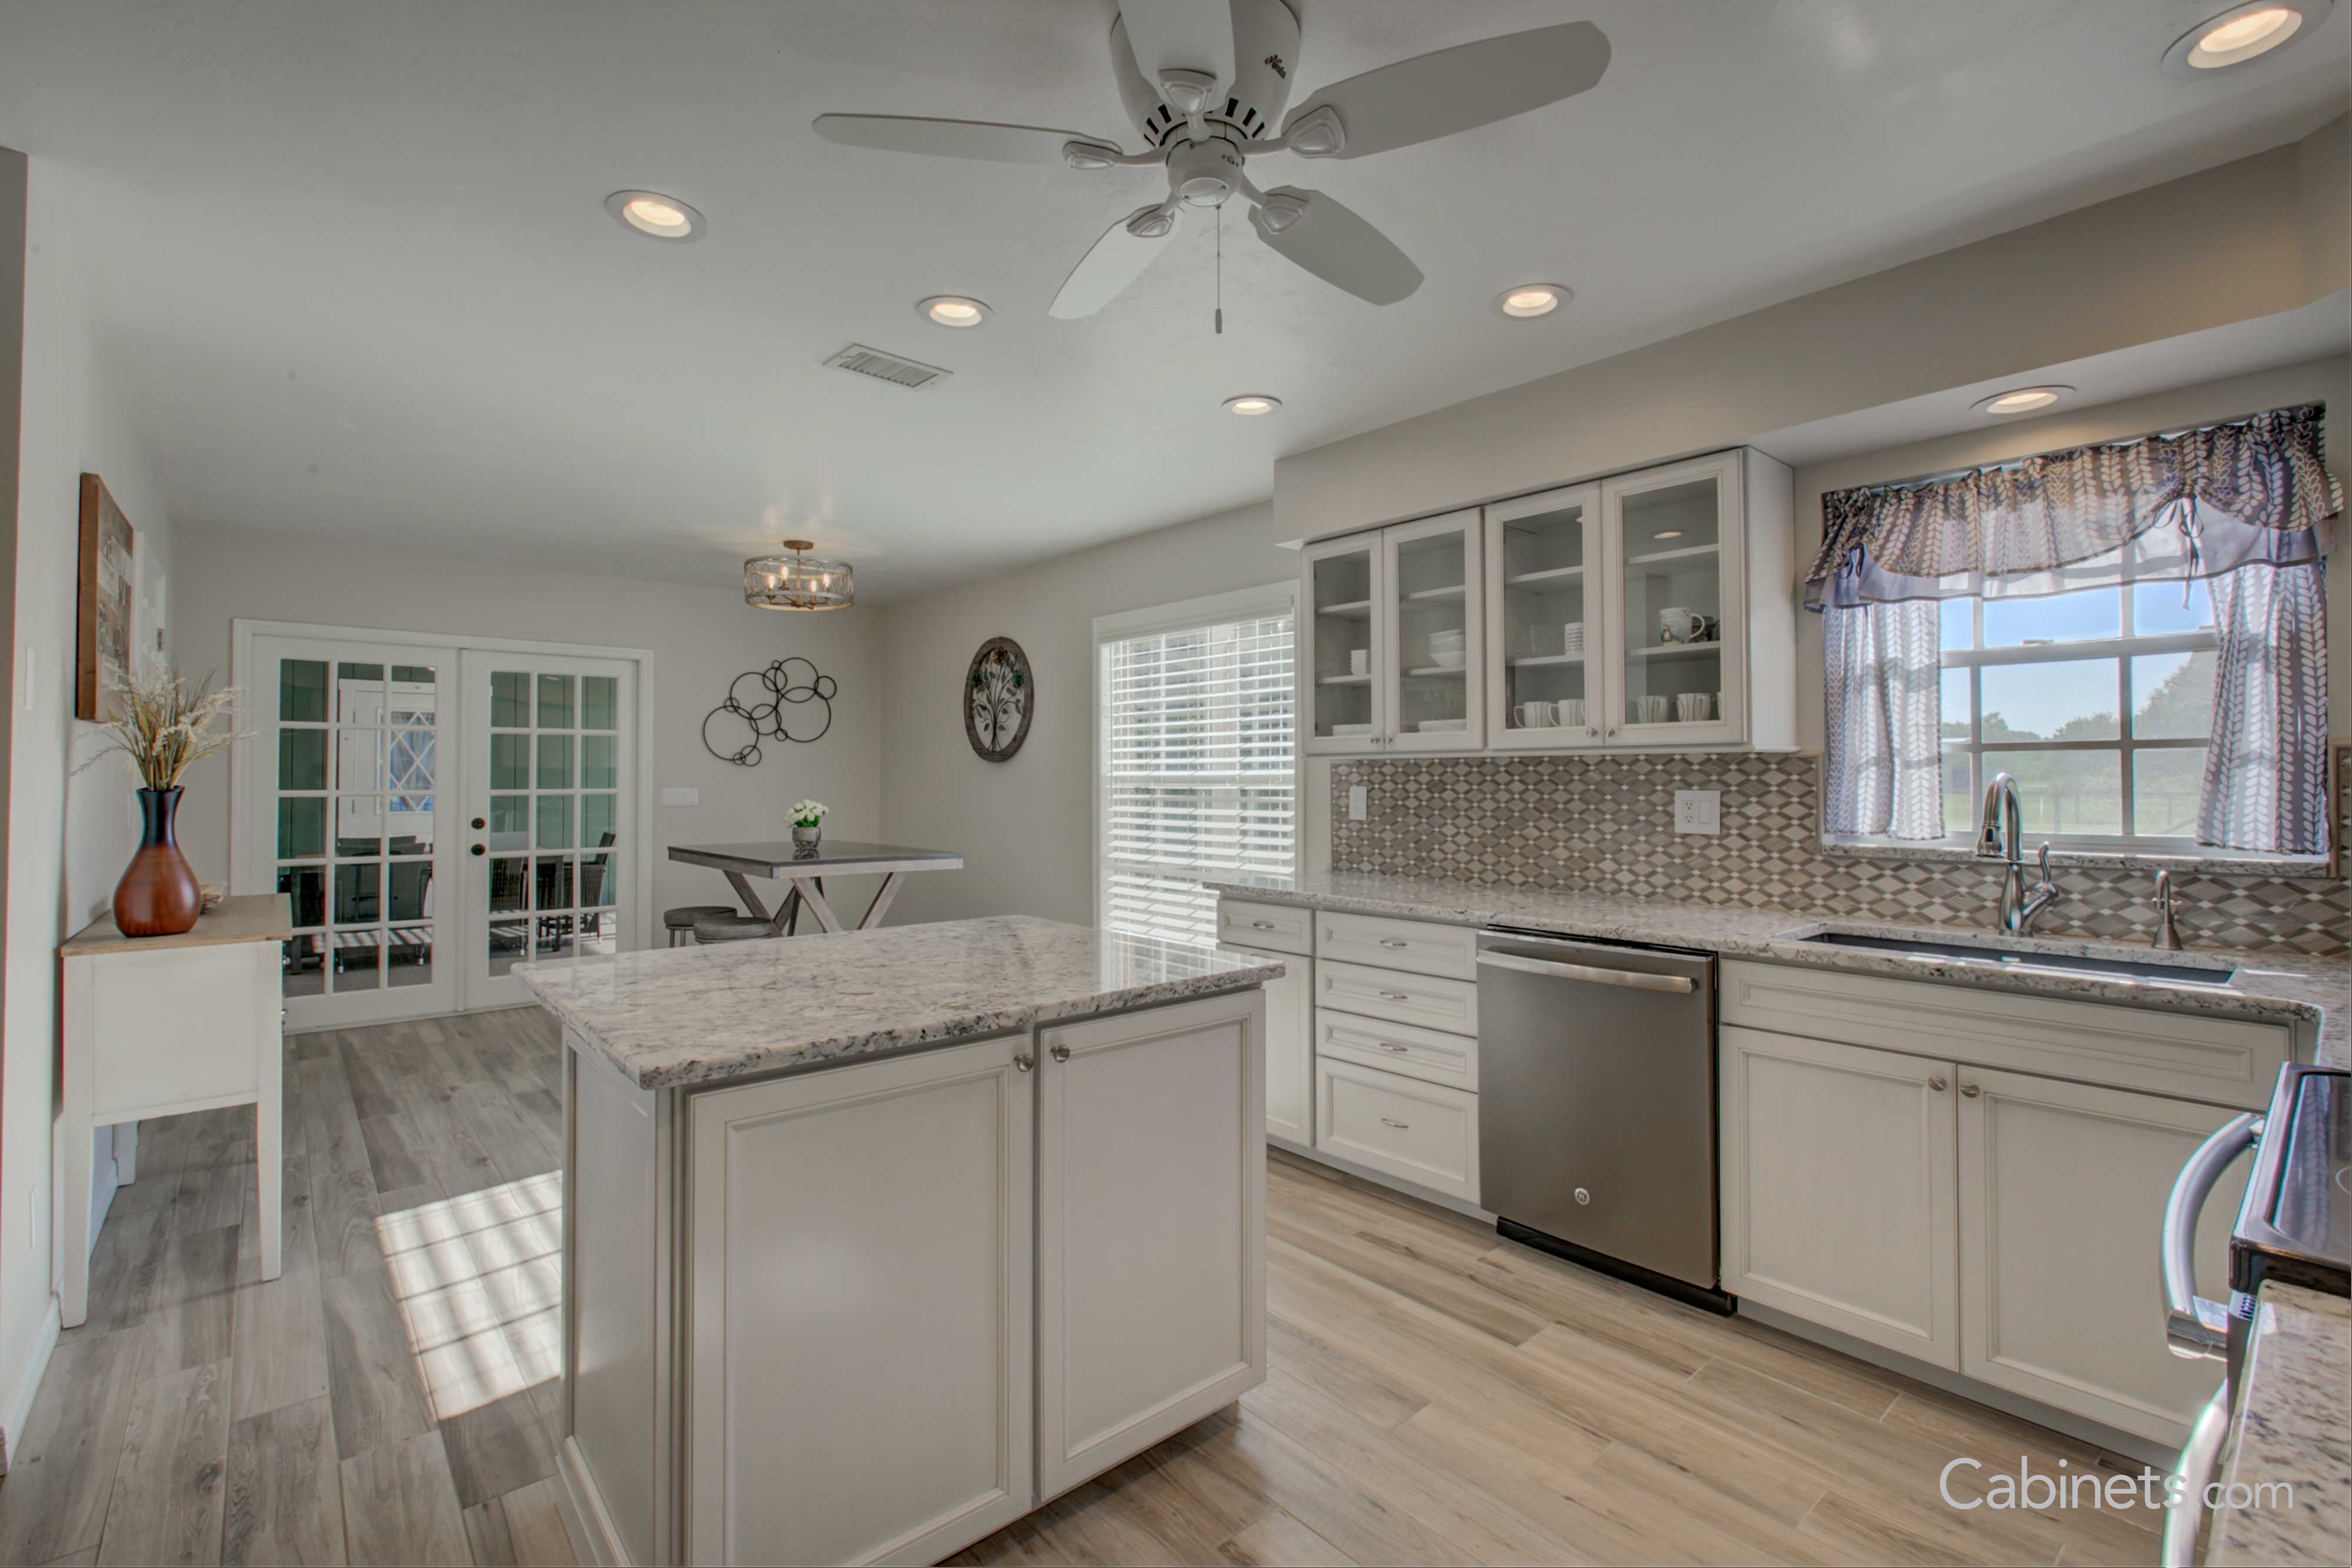
[{"label": "patterned mosaic tile backsplash above the granite sink counter", "polygon": [[[2338,766],[2338,778],[2347,771]],[[1371,790],[1364,823],[1348,820],[1350,785]],[[1675,832],[1675,790],[1722,790],[1722,835]],[[2343,820],[2352,785],[2338,806]],[[1811,755],[1336,762],[1331,870],[1976,929],[1999,896],[1999,872],[1973,860],[1823,851]],[[2060,865],[2056,879],[2065,898],[2037,933],[2143,943],[2154,933],[2154,872]],[[2347,882],[2209,872],[2173,882],[2192,947],[2352,952]]]}]

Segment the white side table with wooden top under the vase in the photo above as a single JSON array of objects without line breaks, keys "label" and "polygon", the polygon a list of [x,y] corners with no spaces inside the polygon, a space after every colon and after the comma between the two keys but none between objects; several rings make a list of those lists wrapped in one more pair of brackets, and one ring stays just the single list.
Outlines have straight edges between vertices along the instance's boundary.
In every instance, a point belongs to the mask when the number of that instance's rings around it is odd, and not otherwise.
[{"label": "white side table with wooden top under the vase", "polygon": [[280,1272],[285,1180],[285,1032],[280,947],[294,922],[285,893],[223,898],[181,936],[122,936],[113,914],[56,952],[64,961],[66,1328],[89,1316],[89,1135],[146,1117],[254,1107],[261,1279]]}]

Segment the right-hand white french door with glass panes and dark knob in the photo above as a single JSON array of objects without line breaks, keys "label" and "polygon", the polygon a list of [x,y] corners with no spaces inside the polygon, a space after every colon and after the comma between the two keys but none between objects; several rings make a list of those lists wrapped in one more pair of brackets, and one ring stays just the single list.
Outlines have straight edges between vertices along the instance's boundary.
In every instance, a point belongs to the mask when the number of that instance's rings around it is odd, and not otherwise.
[{"label": "right-hand white french door with glass panes and dark knob", "polygon": [[630,670],[466,649],[466,1004],[527,1001],[515,964],[619,952],[635,788]]}]

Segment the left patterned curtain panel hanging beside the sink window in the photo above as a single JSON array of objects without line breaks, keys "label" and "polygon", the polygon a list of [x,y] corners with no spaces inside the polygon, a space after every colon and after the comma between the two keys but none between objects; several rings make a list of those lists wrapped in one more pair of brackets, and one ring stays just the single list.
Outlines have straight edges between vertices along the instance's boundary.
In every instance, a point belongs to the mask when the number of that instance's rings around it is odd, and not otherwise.
[{"label": "left patterned curtain panel hanging beside the sink window", "polygon": [[1940,839],[1936,604],[1832,607],[1820,618],[1820,637],[1828,677],[1823,830]]}]

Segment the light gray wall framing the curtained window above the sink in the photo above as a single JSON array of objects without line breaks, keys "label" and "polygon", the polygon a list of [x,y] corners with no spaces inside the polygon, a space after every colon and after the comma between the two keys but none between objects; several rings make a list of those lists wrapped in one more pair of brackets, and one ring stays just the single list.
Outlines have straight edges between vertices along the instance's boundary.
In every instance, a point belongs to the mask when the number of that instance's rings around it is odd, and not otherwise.
[{"label": "light gray wall framing the curtained window above the sink", "polygon": [[[2251,376],[2227,376],[2201,381],[2147,397],[2126,397],[2089,409],[2065,409],[2044,418],[1985,425],[1964,435],[1947,435],[1931,442],[1910,442],[1879,451],[1860,451],[1844,458],[1809,463],[1797,470],[1797,576],[1802,578],[1813,557],[1820,555],[1820,496],[1832,489],[1856,484],[1889,484],[1952,468],[1976,468],[1980,463],[2004,463],[2034,451],[2063,451],[2086,442],[2112,442],[2152,430],[2180,430],[2220,418],[2237,418],[2260,409],[2279,409],[2298,402],[2326,402],[2328,470],[2338,482],[2352,477],[2347,458],[2347,418],[2352,418],[2352,360],[2331,355]],[[1792,585],[1792,592],[1799,588]],[[2352,538],[2343,538],[2338,520],[2338,548],[2328,557],[2328,733],[2343,743],[2352,741]],[[1823,670],[1820,670],[1820,616],[1797,616],[1797,745],[1820,750],[1823,741]]]}]

